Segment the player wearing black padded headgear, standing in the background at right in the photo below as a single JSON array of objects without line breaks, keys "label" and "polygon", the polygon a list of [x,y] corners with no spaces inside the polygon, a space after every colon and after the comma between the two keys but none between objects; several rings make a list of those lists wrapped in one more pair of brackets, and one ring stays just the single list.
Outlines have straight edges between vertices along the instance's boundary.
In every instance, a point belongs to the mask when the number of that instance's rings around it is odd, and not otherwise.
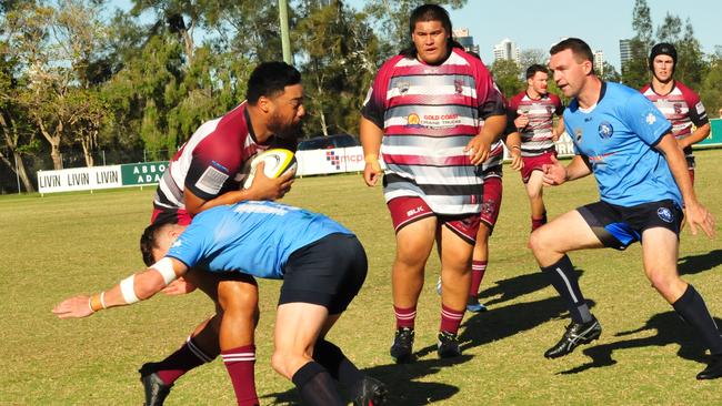
[{"label": "player wearing black padded headgear, standing in the background at right", "polygon": [[[694,154],[692,145],[710,135],[710,120],[700,97],[674,80],[676,49],[671,43],[661,42],[650,52],[652,81],[640,92],[672,123],[672,134],[684,151],[686,165],[694,184]],[[696,128],[696,129],[694,129]]]}]

